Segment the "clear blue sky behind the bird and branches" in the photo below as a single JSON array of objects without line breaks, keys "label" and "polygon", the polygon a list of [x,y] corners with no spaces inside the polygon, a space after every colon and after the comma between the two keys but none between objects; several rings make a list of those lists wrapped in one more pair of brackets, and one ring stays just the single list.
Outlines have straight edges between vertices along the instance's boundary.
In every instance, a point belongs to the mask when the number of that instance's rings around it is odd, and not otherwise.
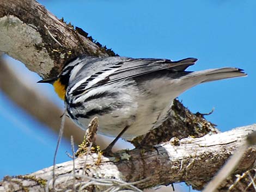
[{"label": "clear blue sky behind the bird and branches", "polygon": [[[179,98],[192,112],[206,118],[221,131],[255,123],[256,111],[256,1],[46,1],[40,3],[59,18],[83,28],[102,45],[126,57],[182,59],[196,57],[190,70],[235,66],[246,78],[202,84]],[[11,60],[15,69],[22,67]],[[61,104],[50,85],[48,96]],[[0,92],[0,122],[3,125],[0,178],[27,174],[52,164],[56,135],[34,121]],[[62,142],[58,162],[69,160],[68,141]],[[3,166],[4,165],[4,166]]]}]

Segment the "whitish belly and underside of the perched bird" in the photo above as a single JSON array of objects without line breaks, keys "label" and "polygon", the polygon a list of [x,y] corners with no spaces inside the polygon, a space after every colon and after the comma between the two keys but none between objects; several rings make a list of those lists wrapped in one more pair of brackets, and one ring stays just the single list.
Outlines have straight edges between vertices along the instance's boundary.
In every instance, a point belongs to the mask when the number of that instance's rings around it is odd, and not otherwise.
[{"label": "whitish belly and underside of the perched bird", "polygon": [[[117,88],[120,89],[117,91],[123,93],[117,98],[122,107],[103,115],[95,115],[99,118],[98,133],[116,137],[126,126],[129,126],[122,135],[122,138],[126,140],[147,134],[150,129],[162,123],[174,98],[184,91],[179,88],[179,85],[180,80],[170,81],[166,78],[147,80],[145,83],[141,83],[139,88],[135,84],[134,86],[126,86],[124,90],[121,90],[121,85],[117,85]],[[101,103],[88,103],[88,106],[91,108],[99,107],[106,105],[107,102],[109,102],[109,98],[106,101],[101,101]],[[111,106],[111,103],[108,105]],[[74,111],[72,113],[80,112]],[[90,119],[92,118],[93,116],[90,117]],[[86,129],[90,119],[78,118],[74,122],[82,129]]]}]

